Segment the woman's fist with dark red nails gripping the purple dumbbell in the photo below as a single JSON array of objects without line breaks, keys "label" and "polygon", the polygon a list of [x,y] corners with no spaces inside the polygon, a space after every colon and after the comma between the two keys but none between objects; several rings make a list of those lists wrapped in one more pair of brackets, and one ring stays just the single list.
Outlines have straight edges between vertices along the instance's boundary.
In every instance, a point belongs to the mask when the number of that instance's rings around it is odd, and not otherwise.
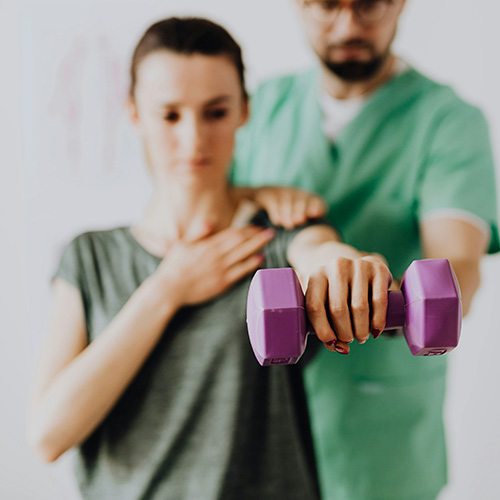
[{"label": "woman's fist with dark red nails gripping the purple dumbbell", "polygon": [[364,255],[334,258],[309,277],[307,314],[330,351],[349,354],[354,339],[364,344],[385,327],[392,275],[383,257]]}]

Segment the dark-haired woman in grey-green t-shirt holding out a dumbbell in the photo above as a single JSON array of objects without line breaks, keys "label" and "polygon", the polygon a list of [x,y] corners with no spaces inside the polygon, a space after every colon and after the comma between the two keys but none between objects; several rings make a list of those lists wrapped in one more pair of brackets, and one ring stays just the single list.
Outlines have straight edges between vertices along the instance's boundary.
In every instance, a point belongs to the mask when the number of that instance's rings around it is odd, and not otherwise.
[{"label": "dark-haired woman in grey-green t-shirt holding out a dumbbell", "polygon": [[329,320],[325,303],[349,313],[348,297],[363,305],[373,296],[371,317],[351,311],[366,341],[385,323],[389,270],[327,226],[266,228],[229,186],[248,98],[240,49],[223,28],[154,24],[131,76],[129,113],[153,198],[135,226],[85,233],[67,247],[31,441],[47,461],[78,447],[85,498],[316,498],[300,372],[261,368],[247,339],[251,273],[290,262],[304,281],[311,275],[318,337],[347,354],[334,333],[342,314]]}]

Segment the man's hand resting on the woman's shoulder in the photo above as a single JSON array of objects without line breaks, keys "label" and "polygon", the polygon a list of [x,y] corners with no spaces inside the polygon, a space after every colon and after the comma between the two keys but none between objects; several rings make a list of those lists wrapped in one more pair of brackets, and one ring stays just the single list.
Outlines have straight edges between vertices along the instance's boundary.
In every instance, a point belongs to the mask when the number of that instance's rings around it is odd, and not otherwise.
[{"label": "man's hand resting on the woman's shoulder", "polygon": [[307,219],[321,217],[328,211],[321,196],[293,187],[236,188],[236,192],[264,208],[275,226],[287,229],[305,224]]}]

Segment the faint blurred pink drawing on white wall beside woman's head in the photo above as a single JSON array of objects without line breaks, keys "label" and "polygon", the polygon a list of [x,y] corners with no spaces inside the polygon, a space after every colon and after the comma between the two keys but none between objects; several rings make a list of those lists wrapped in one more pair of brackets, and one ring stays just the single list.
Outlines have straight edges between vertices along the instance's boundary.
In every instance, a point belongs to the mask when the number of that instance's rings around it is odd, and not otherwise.
[{"label": "faint blurred pink drawing on white wall beside woman's head", "polygon": [[64,168],[78,177],[116,173],[127,82],[104,34],[77,36],[58,62],[47,111],[59,133],[49,150],[59,149]]}]

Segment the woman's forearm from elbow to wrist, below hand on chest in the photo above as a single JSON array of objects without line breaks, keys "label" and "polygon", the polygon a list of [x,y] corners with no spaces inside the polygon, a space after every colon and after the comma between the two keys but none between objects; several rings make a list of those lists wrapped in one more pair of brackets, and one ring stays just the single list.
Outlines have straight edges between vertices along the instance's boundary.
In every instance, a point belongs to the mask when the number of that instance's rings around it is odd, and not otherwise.
[{"label": "woman's forearm from elbow to wrist, below hand on chest", "polygon": [[155,275],[53,380],[35,412],[38,449],[56,460],[85,440],[110,412],[151,353],[178,307]]}]

